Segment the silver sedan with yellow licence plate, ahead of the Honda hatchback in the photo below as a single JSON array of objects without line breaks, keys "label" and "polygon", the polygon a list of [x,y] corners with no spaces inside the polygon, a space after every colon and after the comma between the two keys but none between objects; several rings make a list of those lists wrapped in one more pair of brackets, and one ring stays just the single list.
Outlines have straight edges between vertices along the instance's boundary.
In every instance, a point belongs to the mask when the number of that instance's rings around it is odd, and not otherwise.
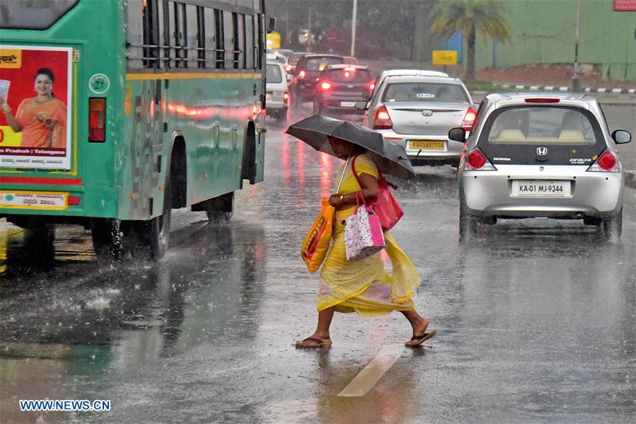
[{"label": "silver sedan with yellow licence plate, ahead of the Honda hatchback", "polygon": [[449,130],[470,130],[475,118],[466,86],[445,74],[387,76],[356,108],[368,109],[362,123],[401,144],[414,165],[457,165],[463,143],[450,140]]}]

